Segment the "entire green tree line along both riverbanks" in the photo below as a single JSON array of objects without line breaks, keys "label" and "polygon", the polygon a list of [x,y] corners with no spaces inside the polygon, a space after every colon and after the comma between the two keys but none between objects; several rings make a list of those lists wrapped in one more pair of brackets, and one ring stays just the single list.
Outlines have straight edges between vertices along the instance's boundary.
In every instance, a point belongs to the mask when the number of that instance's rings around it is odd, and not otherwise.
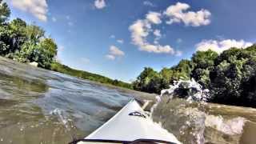
[{"label": "entire green tree line along both riverbanks", "polygon": [[56,60],[57,44],[41,27],[21,18],[9,21],[10,8],[2,0],[0,12],[0,56],[78,78],[155,94],[175,81],[194,78],[203,89],[210,90],[208,102],[256,107],[256,45],[246,49],[230,48],[222,54],[212,50],[197,51],[190,60],[182,59],[177,66],[163,68],[160,72],[146,67],[130,84],[62,65]]}]

